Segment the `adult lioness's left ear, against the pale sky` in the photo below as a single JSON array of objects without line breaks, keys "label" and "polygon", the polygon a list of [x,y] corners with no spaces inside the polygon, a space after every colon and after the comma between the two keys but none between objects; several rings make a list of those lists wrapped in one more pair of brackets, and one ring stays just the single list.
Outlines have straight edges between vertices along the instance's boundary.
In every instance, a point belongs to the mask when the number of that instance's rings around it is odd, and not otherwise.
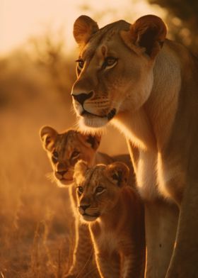
[{"label": "adult lioness's left ear, against the pale sky", "polygon": [[89,16],[79,16],[74,22],[73,34],[78,45],[85,45],[91,35],[99,30],[98,24]]}]

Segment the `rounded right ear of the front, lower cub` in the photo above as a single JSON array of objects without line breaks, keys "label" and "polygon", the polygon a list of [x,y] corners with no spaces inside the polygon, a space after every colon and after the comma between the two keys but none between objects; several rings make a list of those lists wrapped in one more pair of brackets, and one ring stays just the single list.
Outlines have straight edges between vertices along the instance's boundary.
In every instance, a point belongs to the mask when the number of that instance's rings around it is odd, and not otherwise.
[{"label": "rounded right ear of the front, lower cub", "polygon": [[129,168],[123,162],[114,162],[107,165],[106,168],[107,178],[119,187],[127,184],[129,179]]}]

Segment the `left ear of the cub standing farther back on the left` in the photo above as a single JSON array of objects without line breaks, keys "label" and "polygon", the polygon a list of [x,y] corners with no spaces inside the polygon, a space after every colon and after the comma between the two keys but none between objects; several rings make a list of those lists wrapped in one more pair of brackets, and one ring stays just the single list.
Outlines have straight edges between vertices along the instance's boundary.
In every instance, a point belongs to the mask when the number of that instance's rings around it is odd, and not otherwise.
[{"label": "left ear of the cub standing farther back on the left", "polygon": [[42,128],[40,128],[40,139],[42,140],[44,150],[52,150],[57,139],[57,135],[57,131],[50,126],[42,126]]}]

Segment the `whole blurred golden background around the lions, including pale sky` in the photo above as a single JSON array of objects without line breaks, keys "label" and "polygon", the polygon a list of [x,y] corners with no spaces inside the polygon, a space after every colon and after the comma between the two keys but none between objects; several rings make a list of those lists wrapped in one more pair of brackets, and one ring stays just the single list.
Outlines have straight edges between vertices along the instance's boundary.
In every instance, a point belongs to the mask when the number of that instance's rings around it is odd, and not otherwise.
[{"label": "whole blurred golden background around the lions, including pale sky", "polygon": [[[76,126],[74,21],[86,14],[102,27],[148,13],[197,54],[197,0],[0,0],[0,277],[60,278],[69,267],[74,218],[66,190],[46,177],[38,131]],[[107,128],[100,150],[116,155],[127,147]]]}]

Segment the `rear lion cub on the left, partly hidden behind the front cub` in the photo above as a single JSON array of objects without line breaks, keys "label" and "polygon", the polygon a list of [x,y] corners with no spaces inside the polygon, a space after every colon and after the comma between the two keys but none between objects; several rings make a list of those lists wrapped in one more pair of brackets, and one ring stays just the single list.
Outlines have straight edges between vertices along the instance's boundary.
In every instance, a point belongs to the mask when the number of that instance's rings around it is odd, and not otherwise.
[{"label": "rear lion cub on the left, partly hidden behind the front cub", "polygon": [[[87,225],[78,221],[76,214],[76,189],[73,186],[74,166],[78,160],[84,160],[91,167],[97,163],[109,164],[116,160],[122,160],[130,165],[129,155],[117,155],[110,157],[105,153],[98,152],[100,135],[84,135],[78,130],[66,130],[57,133],[50,126],[40,129],[40,138],[43,148],[50,158],[53,176],[59,187],[69,189],[69,201],[75,216],[75,246],[73,263],[69,274],[65,277],[99,277],[93,256],[93,245]],[[133,170],[130,168],[130,178],[133,182]],[[133,182],[134,183],[134,182]]]}]

